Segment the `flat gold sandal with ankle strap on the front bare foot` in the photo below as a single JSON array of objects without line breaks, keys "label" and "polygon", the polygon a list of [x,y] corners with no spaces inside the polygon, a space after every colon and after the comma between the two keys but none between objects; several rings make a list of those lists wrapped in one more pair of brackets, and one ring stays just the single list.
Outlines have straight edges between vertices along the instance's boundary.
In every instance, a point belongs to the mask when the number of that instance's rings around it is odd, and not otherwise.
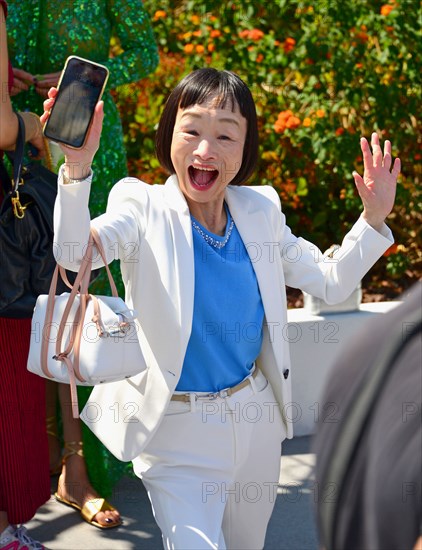
[{"label": "flat gold sandal with ankle strap on the front bare foot", "polygon": [[[65,447],[65,453],[63,455],[63,461],[62,461],[63,464],[66,462],[66,460],[69,457],[73,455],[78,455],[84,458],[82,441],[68,441],[67,443],[64,444],[64,447]],[[109,522],[108,525],[102,525],[101,523],[98,523],[98,521],[94,521],[95,516],[99,512],[106,512],[107,510],[110,510],[110,511],[116,510],[104,498],[100,498],[100,497],[92,498],[90,500],[87,500],[83,506],[79,506],[79,504],[77,504],[76,502],[72,502],[70,500],[67,500],[66,498],[61,497],[57,492],[54,493],[54,496],[57,502],[60,502],[60,504],[70,506],[71,508],[78,510],[82,518],[86,522],[88,522],[90,525],[94,525],[94,527],[98,527],[99,529],[113,529],[114,527],[119,527],[119,525],[122,525],[121,520],[112,521],[110,520],[110,518],[106,519],[106,521]]]}]

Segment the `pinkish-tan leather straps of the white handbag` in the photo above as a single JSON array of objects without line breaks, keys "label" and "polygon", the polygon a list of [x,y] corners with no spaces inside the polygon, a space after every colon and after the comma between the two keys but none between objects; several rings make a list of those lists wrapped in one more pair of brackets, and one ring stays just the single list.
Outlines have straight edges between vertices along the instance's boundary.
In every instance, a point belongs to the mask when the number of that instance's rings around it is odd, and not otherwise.
[{"label": "pinkish-tan leather straps of the white handbag", "polygon": [[[104,262],[112,295],[114,297],[118,297],[116,284],[114,282],[110,268],[107,264],[107,259],[106,259],[104,247],[102,245],[100,236],[97,230],[91,227],[88,245],[83,255],[81,266],[79,268],[78,274],[76,276],[76,279],[73,285],[70,285],[65,275],[65,270],[58,264],[56,265],[56,268],[53,273],[53,277],[51,279],[50,289],[48,293],[46,315],[45,315],[44,327],[42,331],[41,369],[46,377],[54,378],[53,374],[48,369],[48,344],[50,342],[57,282],[60,274],[62,279],[65,281],[65,283],[71,288],[71,291],[70,291],[69,299],[66,303],[65,309],[63,311],[60,325],[58,327],[58,332],[56,337],[56,350],[55,350],[56,353],[54,355],[54,359],[56,359],[57,361],[62,361],[63,363],[65,363],[67,367],[67,370],[69,373],[72,414],[74,418],[79,417],[78,395],[76,391],[76,379],[79,380],[80,382],[86,381],[81,375],[79,370],[79,352],[80,352],[80,345],[81,345],[86,308],[87,308],[88,301],[90,299],[94,300],[93,321],[96,323],[98,327],[99,335],[100,336],[102,335],[101,314],[98,306],[98,300],[94,296],[88,293],[88,286],[90,283],[91,270],[92,270],[94,244]],[[70,332],[67,347],[65,350],[62,350],[61,348],[62,348],[64,329],[66,327],[66,322],[69,317],[71,308],[75,302],[76,296],[79,296],[79,306],[75,313],[75,317],[72,323],[72,329]],[[69,354],[72,352],[72,349],[73,349],[73,362],[69,358]]]}]

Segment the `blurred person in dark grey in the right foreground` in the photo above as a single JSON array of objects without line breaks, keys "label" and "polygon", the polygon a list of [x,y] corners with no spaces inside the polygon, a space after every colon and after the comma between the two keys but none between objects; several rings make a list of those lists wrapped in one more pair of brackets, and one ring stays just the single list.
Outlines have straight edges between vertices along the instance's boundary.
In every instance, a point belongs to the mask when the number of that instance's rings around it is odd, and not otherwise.
[{"label": "blurred person in dark grey in the right foreground", "polygon": [[421,323],[418,282],[333,366],[321,410],[336,418],[314,438],[324,550],[422,549]]}]

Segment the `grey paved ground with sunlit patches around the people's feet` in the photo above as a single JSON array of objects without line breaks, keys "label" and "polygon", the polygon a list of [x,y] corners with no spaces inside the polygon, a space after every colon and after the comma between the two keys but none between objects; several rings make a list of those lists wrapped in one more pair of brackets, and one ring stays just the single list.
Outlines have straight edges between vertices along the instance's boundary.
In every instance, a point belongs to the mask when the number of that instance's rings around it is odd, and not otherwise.
[{"label": "grey paved ground with sunlit patches around the people's feet", "polygon": [[[265,550],[317,550],[314,522],[314,455],[310,438],[283,444],[280,485]],[[55,490],[54,485],[52,491]],[[52,497],[27,524],[30,534],[49,550],[161,550],[160,532],[148,497],[137,479],[123,479],[110,501],[119,508],[124,526],[100,530],[80,519]],[[241,549],[239,549],[241,550]]]}]

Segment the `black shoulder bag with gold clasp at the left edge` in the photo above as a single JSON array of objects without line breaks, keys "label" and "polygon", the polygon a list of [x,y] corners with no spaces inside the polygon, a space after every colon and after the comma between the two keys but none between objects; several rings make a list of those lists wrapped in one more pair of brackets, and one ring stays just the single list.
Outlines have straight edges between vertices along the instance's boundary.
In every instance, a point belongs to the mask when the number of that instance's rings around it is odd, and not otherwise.
[{"label": "black shoulder bag with gold clasp at the left edge", "polygon": [[[48,293],[56,266],[53,209],[57,175],[40,163],[23,165],[25,127],[18,116],[13,179],[0,160],[4,198],[0,206],[0,317],[29,318],[39,294]],[[65,290],[58,289],[58,293]]]}]

